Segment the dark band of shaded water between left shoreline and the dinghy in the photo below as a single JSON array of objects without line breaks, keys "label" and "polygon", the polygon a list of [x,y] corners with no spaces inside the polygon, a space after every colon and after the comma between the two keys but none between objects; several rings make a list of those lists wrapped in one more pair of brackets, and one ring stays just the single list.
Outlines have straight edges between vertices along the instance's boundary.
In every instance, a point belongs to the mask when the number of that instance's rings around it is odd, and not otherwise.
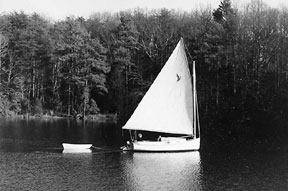
[{"label": "dark band of shaded water between left shoreline and the dinghy", "polygon": [[0,118],[0,150],[61,150],[63,142],[119,147],[121,129],[114,123]]}]

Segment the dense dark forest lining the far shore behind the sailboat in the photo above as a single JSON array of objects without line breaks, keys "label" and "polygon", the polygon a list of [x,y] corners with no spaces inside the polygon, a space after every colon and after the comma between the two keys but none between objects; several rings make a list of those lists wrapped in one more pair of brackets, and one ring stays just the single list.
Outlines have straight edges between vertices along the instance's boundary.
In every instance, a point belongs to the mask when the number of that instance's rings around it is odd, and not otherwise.
[{"label": "dense dark forest lining the far shore behind the sailboat", "polygon": [[1,14],[0,115],[113,113],[123,124],[181,37],[196,62],[202,134],[288,134],[288,9],[261,0],[60,21]]}]

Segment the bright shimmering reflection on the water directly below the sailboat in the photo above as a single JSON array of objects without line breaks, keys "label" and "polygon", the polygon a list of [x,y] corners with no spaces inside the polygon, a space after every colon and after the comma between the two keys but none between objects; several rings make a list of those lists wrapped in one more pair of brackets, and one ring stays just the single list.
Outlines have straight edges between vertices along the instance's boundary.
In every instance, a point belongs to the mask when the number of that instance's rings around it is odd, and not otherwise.
[{"label": "bright shimmering reflection on the water directly below the sailboat", "polygon": [[133,153],[125,166],[128,190],[201,190],[198,151]]}]

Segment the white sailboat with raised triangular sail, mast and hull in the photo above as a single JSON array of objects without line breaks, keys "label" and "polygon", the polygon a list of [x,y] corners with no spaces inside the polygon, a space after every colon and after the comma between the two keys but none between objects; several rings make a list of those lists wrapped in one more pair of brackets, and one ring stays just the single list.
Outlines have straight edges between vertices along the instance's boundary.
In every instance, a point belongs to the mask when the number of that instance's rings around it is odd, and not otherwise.
[{"label": "white sailboat with raised triangular sail, mast and hull", "polygon": [[[192,68],[191,79],[181,38],[141,102],[122,127],[123,130],[129,130],[131,139],[122,147],[123,150],[176,152],[200,149],[195,61]],[[142,131],[157,132],[160,134],[159,139],[145,140],[139,133]],[[162,137],[161,133],[169,136]]]}]

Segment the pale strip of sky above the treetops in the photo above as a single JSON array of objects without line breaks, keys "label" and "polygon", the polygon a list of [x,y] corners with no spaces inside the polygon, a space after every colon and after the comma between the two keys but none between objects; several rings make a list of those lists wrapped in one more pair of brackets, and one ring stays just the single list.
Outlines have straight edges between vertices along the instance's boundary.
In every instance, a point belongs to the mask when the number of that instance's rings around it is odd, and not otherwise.
[{"label": "pale strip of sky above the treetops", "polygon": [[[88,18],[97,12],[119,12],[128,9],[175,9],[191,10],[211,7],[216,9],[221,0],[0,0],[0,14],[24,11],[26,14],[38,13],[52,20],[63,20],[67,16]],[[232,0],[241,8],[250,0]],[[288,0],[263,0],[271,7],[288,7]]]}]

